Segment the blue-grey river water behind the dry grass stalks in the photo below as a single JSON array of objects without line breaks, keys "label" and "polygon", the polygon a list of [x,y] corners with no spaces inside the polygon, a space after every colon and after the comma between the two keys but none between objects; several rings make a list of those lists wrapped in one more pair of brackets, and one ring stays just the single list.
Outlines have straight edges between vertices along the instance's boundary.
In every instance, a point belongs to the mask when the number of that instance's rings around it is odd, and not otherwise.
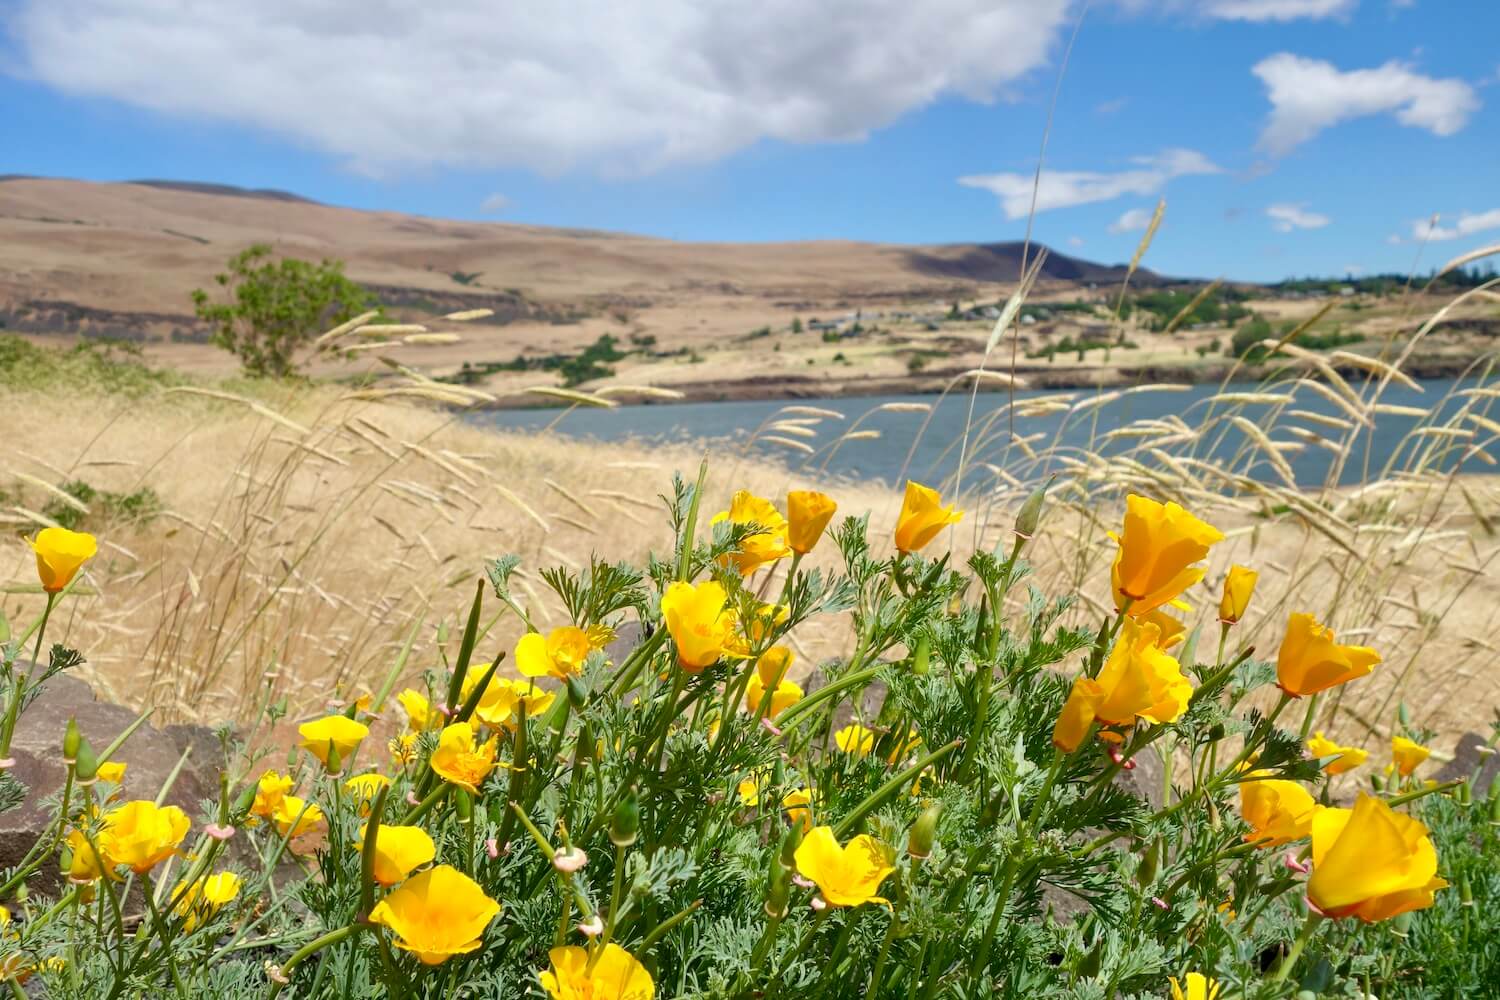
[{"label": "blue-grey river water behind the dry grass stalks", "polygon": [[[1473,433],[1472,438],[1455,438],[1448,433],[1413,436],[1413,430],[1419,427],[1443,424],[1466,402],[1472,412],[1488,420],[1500,420],[1500,412],[1490,414],[1490,406],[1496,400],[1476,399],[1460,391],[1473,388],[1476,385],[1473,381],[1430,379],[1418,385],[1419,388],[1413,390],[1390,384],[1380,396],[1382,408],[1422,408],[1432,411],[1436,418],[1416,417],[1401,411],[1376,412],[1372,415],[1374,427],[1362,432],[1354,441],[1352,457],[1346,462],[1340,477],[1341,483],[1350,484],[1374,478],[1382,474],[1383,468],[1407,468],[1419,450],[1428,450],[1434,445],[1442,451],[1434,465],[1446,471],[1461,462],[1472,445],[1482,445],[1492,438],[1488,430],[1473,421],[1462,424],[1467,432]],[[1364,391],[1368,397],[1368,390],[1360,382],[1353,382],[1353,388]],[[1014,420],[1011,420],[1011,397],[1004,391],[980,393],[974,399],[972,420],[969,420],[970,399],[968,393],[954,393],[940,402],[936,396],[874,396],[670,403],[618,406],[615,409],[578,408],[567,414],[556,409],[508,409],[486,411],[476,420],[510,430],[542,430],[552,426],[555,433],[598,441],[634,439],[648,445],[651,442],[708,441],[720,447],[741,448],[760,429],[760,438],[748,445],[752,453],[777,454],[794,469],[800,465],[810,471],[826,468],[828,472],[886,483],[896,483],[903,472],[924,481],[944,480],[958,465],[963,430],[969,426],[981,430],[970,430],[968,444],[963,445],[968,448],[966,468],[974,469],[976,463],[988,462],[1011,469],[1022,478],[1032,478],[1042,471],[1058,468],[1056,462],[1048,469],[1042,462],[1029,460],[1023,448],[1011,444],[1012,432],[1026,438],[1035,451],[1078,454],[1078,450],[1090,447],[1092,442],[1094,451],[1122,453],[1130,448],[1152,447],[1158,435],[1120,433],[1110,438],[1107,436],[1110,432],[1128,429],[1136,421],[1161,420],[1170,415],[1180,417],[1190,427],[1203,427],[1212,417],[1222,415],[1230,406],[1226,402],[1215,403],[1210,399],[1220,391],[1218,384],[1190,385],[1180,391],[1138,391],[1108,399],[1114,396],[1114,391],[1028,390],[1014,394],[1017,412]],[[1299,436],[1293,429],[1300,429],[1304,435],[1322,435],[1332,442],[1341,441],[1344,436],[1341,430],[1316,418],[1316,415],[1347,418],[1347,414],[1334,402],[1306,385],[1281,385],[1266,390],[1256,384],[1239,384],[1230,385],[1224,391],[1292,394],[1290,403],[1252,402],[1234,409],[1234,412],[1266,430],[1272,441],[1300,445],[1300,448],[1292,447],[1282,451],[1299,484],[1314,486],[1326,481],[1334,453],[1316,441]],[[1071,414],[1064,412],[1062,403],[1056,403],[1058,411],[1054,412],[1035,412],[1036,408],[1046,409],[1048,406],[1047,399],[1065,400],[1068,406],[1077,406],[1083,400],[1100,396],[1104,396],[1107,402],[1088,405]],[[892,403],[896,406],[891,406]],[[930,418],[928,414],[916,412],[914,405],[930,406]],[[794,412],[788,412],[788,406],[792,406]],[[825,417],[818,423],[800,424],[812,430],[813,436],[807,436],[806,432],[768,429],[768,424],[778,420],[810,421],[806,412],[796,412],[806,408],[836,411],[843,418]],[[987,432],[982,430],[986,427]],[[838,442],[838,438],[850,430],[855,436]],[[876,432],[878,436],[862,432]],[[814,454],[808,456],[801,450],[768,442],[765,441],[766,435],[801,441],[814,448]],[[916,442],[915,448],[914,442]],[[1500,445],[1491,444],[1490,451],[1500,457]],[[1275,469],[1270,463],[1258,454],[1251,454],[1252,447],[1248,447],[1245,430],[1224,421],[1218,421],[1216,427],[1196,445],[1167,442],[1162,450],[1173,456],[1188,454],[1218,465],[1233,463],[1236,471],[1248,469],[1257,478],[1275,478]],[[1150,463],[1155,465],[1155,462]],[[1496,471],[1474,457],[1462,462],[1462,466],[1464,471],[1473,472]]]}]

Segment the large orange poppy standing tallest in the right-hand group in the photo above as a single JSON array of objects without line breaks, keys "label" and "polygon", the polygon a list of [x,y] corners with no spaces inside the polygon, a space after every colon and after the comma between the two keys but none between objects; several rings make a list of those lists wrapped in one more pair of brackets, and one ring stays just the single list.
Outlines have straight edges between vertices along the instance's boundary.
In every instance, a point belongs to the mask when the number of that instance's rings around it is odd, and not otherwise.
[{"label": "large orange poppy standing tallest in the right-hand group", "polygon": [[1131,493],[1125,498],[1125,526],[1110,580],[1114,606],[1130,606],[1131,615],[1144,615],[1174,600],[1203,579],[1202,562],[1209,546],[1224,541],[1212,525],[1198,520],[1178,504],[1158,504]]}]

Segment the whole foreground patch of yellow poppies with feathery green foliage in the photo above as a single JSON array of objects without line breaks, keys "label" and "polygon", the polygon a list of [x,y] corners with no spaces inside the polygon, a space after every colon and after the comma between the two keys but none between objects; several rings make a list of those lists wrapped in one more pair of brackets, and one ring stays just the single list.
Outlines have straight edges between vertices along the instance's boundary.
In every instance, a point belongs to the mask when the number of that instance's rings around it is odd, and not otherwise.
[{"label": "whole foreground patch of yellow poppies with feathery green foliage", "polygon": [[[956,567],[924,552],[963,514],[916,483],[888,541],[832,528],[816,492],[705,516],[702,484],[668,499],[670,558],[542,571],[566,619],[536,621],[519,561],[494,561],[452,660],[398,691],[410,640],[285,766],[228,741],[198,816],[120,801],[123,741],[69,726],[54,819],[0,885],[24,916],[3,912],[0,978],[111,999],[1400,996],[1422,955],[1365,928],[1407,936],[1455,885],[1500,894],[1500,787],[1422,781],[1402,718],[1356,790],[1368,751],[1314,723],[1380,654],[1302,612],[1274,664],[1236,649],[1257,582],[1238,565],[1204,640],[1191,601],[1224,535],[1180,505],[1126,498],[1114,613],[1077,630],[1068,598],[1022,591],[1041,490]],[[94,540],[33,546],[34,663]],[[842,570],[802,568],[830,546]],[[525,633],[486,658],[490,595]],[[804,688],[795,637],[844,615],[849,655]],[[6,628],[0,757],[78,660],[54,646],[28,675],[20,648]],[[1278,727],[1293,705],[1300,733]],[[66,882],[42,903],[48,867]],[[1470,954],[1466,975],[1500,972]]]}]

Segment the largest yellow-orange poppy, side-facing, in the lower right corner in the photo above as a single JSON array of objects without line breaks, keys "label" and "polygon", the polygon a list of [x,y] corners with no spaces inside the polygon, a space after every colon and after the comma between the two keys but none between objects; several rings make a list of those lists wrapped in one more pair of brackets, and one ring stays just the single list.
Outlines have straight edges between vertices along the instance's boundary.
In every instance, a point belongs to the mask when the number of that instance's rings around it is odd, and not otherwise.
[{"label": "largest yellow-orange poppy, side-facing, in the lower right corner", "polygon": [[1374,924],[1425,910],[1444,886],[1420,820],[1368,795],[1352,810],[1318,808],[1312,817],[1308,901],[1324,916]]}]

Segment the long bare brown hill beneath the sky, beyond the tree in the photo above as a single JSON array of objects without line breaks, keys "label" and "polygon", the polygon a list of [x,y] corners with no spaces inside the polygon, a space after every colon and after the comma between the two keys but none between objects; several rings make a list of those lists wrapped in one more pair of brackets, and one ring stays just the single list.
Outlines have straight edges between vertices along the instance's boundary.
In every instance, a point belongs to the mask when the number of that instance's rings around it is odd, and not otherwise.
[{"label": "long bare brown hill beneath the sky, beyond the tree", "polygon": [[[208,285],[224,261],[250,243],[344,259],[351,276],[396,303],[498,306],[512,318],[720,297],[858,307],[999,294],[986,286],[1016,280],[1022,249],[680,243],[358,211],[285,192],[190,181],[12,177],[0,183],[0,316],[22,330],[66,331],[81,322],[96,333],[186,336],[189,292]],[[1108,283],[1122,273],[1052,255],[1044,277]]]}]

